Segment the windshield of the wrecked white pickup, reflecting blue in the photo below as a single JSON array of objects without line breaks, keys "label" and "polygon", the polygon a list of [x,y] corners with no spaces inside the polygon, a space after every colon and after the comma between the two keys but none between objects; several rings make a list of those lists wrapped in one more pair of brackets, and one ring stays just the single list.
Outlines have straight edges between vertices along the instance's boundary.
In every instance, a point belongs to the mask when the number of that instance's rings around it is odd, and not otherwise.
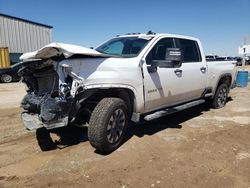
[{"label": "windshield of the wrecked white pickup, reflecting blue", "polygon": [[95,50],[108,55],[136,57],[151,38],[119,37],[109,40]]}]

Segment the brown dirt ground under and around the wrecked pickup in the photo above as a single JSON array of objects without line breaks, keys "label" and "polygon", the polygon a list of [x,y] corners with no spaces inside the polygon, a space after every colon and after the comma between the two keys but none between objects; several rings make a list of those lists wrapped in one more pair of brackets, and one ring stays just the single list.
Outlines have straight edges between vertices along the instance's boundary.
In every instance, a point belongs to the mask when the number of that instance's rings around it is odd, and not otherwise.
[{"label": "brown dirt ground under and around the wrecked pickup", "polygon": [[250,85],[225,108],[200,105],[130,125],[110,155],[86,128],[27,131],[21,83],[0,84],[0,187],[250,187]]}]

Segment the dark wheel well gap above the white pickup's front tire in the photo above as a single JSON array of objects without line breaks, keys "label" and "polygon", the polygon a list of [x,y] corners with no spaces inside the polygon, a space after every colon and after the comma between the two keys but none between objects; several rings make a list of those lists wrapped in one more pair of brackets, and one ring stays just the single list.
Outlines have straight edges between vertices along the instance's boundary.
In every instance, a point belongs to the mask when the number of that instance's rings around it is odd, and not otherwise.
[{"label": "dark wheel well gap above the white pickup's front tire", "polygon": [[[87,91],[88,92],[88,91]],[[131,117],[134,110],[134,93],[130,89],[126,88],[112,88],[112,89],[95,89],[90,91],[91,94],[83,101],[83,105],[92,111],[98,102],[106,97],[120,98],[124,100],[125,104],[128,107],[129,117]],[[85,93],[85,92],[84,92]]]}]

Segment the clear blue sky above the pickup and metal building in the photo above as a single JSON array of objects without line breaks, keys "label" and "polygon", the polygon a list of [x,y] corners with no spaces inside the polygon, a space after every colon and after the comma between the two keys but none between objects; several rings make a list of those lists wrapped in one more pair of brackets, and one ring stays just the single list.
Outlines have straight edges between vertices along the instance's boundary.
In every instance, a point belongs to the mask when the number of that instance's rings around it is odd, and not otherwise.
[{"label": "clear blue sky above the pickup and metal building", "polygon": [[53,41],[97,46],[128,32],[198,37],[206,53],[250,43],[250,0],[0,0],[0,12],[52,25]]}]

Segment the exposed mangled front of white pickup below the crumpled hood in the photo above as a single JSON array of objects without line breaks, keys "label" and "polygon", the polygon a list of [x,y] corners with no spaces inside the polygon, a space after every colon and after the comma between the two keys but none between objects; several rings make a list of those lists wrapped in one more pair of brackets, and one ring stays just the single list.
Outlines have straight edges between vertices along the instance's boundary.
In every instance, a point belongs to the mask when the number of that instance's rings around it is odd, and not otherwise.
[{"label": "exposed mangled front of white pickup below the crumpled hood", "polygon": [[27,85],[21,107],[22,120],[29,130],[64,127],[74,118],[77,105],[71,95],[73,78],[59,79],[59,63],[53,60],[23,62],[19,70]]}]

